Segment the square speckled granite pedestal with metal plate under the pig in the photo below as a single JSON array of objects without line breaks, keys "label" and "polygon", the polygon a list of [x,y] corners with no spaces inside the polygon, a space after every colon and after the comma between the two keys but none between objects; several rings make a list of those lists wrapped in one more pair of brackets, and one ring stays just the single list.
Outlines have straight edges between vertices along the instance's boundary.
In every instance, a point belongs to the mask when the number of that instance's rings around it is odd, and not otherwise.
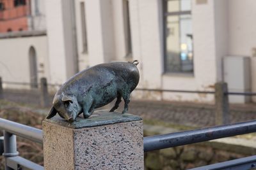
[{"label": "square speckled granite pedestal with metal plate under the pig", "polygon": [[128,113],[95,111],[69,124],[44,120],[45,169],[143,169],[143,124]]}]

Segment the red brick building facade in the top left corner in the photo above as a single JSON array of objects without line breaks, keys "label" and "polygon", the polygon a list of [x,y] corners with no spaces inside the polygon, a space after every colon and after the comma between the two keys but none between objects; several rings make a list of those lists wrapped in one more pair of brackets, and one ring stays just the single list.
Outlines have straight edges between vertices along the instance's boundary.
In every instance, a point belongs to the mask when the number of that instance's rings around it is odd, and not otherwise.
[{"label": "red brick building facade in the top left corner", "polygon": [[28,30],[28,16],[30,14],[30,1],[26,5],[14,6],[13,0],[0,0],[4,10],[0,11],[0,32]]}]

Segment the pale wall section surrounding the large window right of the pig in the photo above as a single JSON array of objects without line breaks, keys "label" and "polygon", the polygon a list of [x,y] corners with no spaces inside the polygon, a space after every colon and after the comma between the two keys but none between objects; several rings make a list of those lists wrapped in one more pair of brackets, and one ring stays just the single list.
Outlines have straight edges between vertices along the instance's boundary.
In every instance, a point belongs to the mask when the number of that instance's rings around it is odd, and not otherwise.
[{"label": "pale wall section surrounding the large window right of the pig", "polygon": [[[163,11],[162,1],[132,3],[132,47],[142,65],[140,86],[150,89],[214,90],[217,80],[216,32],[214,1],[196,4],[193,1],[194,68],[191,74],[163,72]],[[207,37],[207,38],[205,38]],[[145,92],[142,97],[154,99],[211,102],[213,96]]]}]

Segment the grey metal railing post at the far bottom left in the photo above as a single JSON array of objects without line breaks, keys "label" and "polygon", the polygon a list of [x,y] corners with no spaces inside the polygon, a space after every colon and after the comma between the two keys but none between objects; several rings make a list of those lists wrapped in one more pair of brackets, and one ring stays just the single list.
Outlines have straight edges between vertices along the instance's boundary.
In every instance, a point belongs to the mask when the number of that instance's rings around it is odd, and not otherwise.
[{"label": "grey metal railing post at the far bottom left", "polygon": [[11,170],[12,168],[8,167],[8,162],[6,161],[7,157],[15,157],[19,155],[17,152],[17,143],[16,143],[16,135],[11,134],[9,132],[4,131],[4,153],[5,157],[5,169]]}]

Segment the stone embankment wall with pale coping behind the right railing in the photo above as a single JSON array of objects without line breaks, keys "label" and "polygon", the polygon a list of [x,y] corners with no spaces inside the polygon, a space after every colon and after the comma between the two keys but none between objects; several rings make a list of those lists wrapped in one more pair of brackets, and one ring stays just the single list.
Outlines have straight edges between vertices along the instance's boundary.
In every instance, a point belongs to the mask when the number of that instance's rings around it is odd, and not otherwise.
[{"label": "stone embankment wall with pale coping behind the right railing", "polygon": [[[144,121],[144,120],[143,120]],[[184,131],[144,122],[144,136]],[[256,155],[255,134],[215,139],[202,143],[145,153],[145,170],[183,170]]]}]

